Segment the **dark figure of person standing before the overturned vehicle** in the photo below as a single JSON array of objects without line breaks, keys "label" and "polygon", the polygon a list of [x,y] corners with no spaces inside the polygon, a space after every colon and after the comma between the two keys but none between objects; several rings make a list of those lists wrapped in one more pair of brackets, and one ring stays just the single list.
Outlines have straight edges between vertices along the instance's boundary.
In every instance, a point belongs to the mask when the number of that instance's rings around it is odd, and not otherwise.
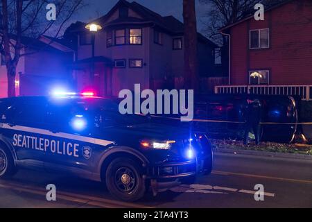
[{"label": "dark figure of person standing before the overturned vehicle", "polygon": [[248,145],[249,133],[251,130],[254,131],[254,137],[256,139],[256,144],[260,143],[260,121],[261,121],[261,103],[258,99],[251,100],[247,99],[247,105],[245,107],[245,136],[244,144]]}]

